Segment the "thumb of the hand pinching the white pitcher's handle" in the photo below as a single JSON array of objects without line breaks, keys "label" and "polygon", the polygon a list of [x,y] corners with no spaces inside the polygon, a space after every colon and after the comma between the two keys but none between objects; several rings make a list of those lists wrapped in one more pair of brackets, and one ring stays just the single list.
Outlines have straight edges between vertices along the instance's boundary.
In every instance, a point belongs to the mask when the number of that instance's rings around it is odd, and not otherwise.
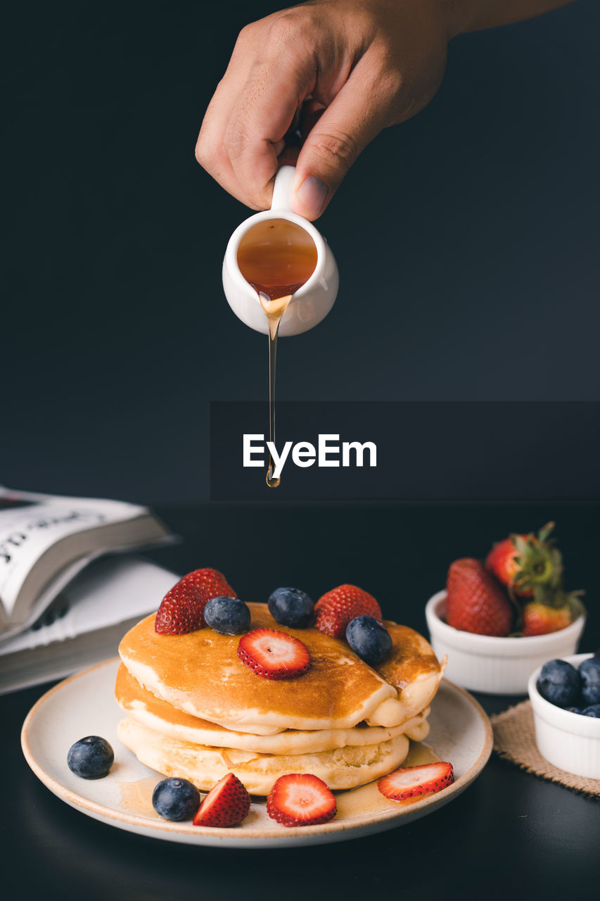
[{"label": "thumb of the hand pinching the white pitcher's handle", "polygon": [[295,166],[292,210],[317,219],[352,163],[386,124],[377,91],[352,75],[308,132]]}]

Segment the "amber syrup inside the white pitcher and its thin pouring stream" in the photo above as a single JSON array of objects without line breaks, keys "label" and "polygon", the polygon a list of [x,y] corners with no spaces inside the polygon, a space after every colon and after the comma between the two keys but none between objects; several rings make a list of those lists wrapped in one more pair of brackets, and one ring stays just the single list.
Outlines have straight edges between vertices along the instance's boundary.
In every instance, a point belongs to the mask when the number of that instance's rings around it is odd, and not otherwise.
[{"label": "amber syrup inside the white pitcher and its thin pouring stream", "polygon": [[[317,249],[310,234],[287,219],[266,219],[252,225],[240,241],[238,267],[259,295],[268,322],[268,431],[275,443],[275,371],[281,317],[299,287],[313,275]],[[268,459],[267,485],[277,488]]]}]

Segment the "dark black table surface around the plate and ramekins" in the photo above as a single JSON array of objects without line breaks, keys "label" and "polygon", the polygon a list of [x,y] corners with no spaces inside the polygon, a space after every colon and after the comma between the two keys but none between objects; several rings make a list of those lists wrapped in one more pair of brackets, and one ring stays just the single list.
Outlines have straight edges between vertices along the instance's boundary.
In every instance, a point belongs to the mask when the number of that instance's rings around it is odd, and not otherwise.
[{"label": "dark black table surface around the plate and ramekins", "polygon": [[[425,631],[423,605],[450,560],[557,521],[568,587],[585,587],[582,651],[600,646],[596,506],[213,505],[159,511],[184,541],[151,556],[181,572],[223,569],[241,596],[277,585],[318,596],[367,587],[389,618]],[[23,760],[23,718],[48,686],[0,698],[4,896],[112,899],[233,897],[583,897],[597,893],[600,805],[492,755],[456,801],[368,838],[290,850],[192,847],[125,833],[63,804]],[[519,700],[478,695],[488,714]],[[18,892],[18,895],[17,895]]]}]

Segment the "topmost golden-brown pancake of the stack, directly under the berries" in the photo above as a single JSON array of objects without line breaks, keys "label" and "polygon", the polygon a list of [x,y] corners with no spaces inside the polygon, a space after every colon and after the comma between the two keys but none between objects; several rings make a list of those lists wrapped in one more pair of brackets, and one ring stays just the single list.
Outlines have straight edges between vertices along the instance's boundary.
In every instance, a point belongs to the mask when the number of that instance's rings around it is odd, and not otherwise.
[{"label": "topmost golden-brown pancake of the stack, directly under the berries", "polygon": [[154,614],[123,638],[119,653],[141,686],[178,710],[240,733],[284,730],[394,728],[429,705],[441,667],[428,642],[414,630],[386,623],[394,647],[377,672],[346,642],[314,628],[289,629],[249,604],[250,629],[267,627],[294,635],[311,655],[301,678],[273,681],[257,677],[237,657],[239,636],[200,629],[160,635]]}]

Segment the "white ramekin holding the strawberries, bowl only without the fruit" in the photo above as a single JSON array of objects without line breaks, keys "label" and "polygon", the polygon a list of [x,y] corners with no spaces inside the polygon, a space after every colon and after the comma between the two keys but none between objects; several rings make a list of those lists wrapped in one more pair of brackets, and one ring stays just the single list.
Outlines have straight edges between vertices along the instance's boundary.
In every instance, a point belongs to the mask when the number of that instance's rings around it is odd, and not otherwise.
[{"label": "white ramekin holding the strawberries, bowl only without the fruit", "polygon": [[445,622],[446,592],[433,595],[425,607],[425,616],[437,657],[448,655],[445,675],[451,682],[483,691],[488,695],[524,695],[533,669],[546,660],[565,657],[577,651],[585,615],[549,635],[531,638],[492,638],[460,632]]}]

